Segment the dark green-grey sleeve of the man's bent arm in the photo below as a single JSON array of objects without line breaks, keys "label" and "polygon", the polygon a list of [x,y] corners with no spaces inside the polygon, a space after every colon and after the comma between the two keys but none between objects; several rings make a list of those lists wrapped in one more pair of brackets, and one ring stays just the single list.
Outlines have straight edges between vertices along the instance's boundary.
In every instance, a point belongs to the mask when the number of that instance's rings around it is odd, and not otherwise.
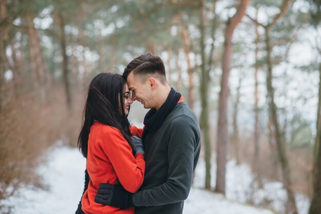
[{"label": "dark green-grey sleeve of the man's bent arm", "polygon": [[[135,206],[159,206],[187,199],[193,175],[194,154],[199,142],[198,126],[183,115],[174,118],[168,136],[168,178],[159,186],[133,195]],[[199,147],[198,147],[199,148]]]}]

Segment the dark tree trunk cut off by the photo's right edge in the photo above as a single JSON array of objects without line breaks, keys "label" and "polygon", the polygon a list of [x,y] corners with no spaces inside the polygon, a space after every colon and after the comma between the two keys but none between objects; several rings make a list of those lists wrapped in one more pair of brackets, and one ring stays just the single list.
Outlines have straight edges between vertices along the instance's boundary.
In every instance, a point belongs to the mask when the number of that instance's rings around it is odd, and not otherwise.
[{"label": "dark tree trunk cut off by the photo's right edge", "polygon": [[313,196],[309,214],[321,213],[321,63],[319,64],[319,97],[317,105],[316,137],[314,144]]}]

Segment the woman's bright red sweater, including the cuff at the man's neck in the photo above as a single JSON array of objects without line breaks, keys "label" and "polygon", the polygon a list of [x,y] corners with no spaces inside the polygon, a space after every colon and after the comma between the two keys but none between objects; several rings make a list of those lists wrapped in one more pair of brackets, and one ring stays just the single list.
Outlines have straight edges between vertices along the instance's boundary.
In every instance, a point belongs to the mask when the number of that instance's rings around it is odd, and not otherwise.
[{"label": "woman's bright red sweater, including the cuff at the man's neck", "polygon": [[[130,130],[133,136],[142,136],[143,129],[131,126]],[[118,178],[127,191],[134,193],[144,181],[144,156],[133,156],[130,145],[119,130],[98,121],[93,123],[88,139],[86,167],[90,176],[88,189],[82,198],[82,209],[86,214],[134,213],[134,207],[120,209],[94,202],[101,183],[117,184]]]}]

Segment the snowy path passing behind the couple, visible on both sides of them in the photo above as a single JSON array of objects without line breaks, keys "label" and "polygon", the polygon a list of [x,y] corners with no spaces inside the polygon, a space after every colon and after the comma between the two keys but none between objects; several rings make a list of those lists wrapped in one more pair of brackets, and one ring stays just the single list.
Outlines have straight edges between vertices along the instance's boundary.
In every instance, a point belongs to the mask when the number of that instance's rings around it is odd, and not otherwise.
[{"label": "snowy path passing behind the couple, visible on both sides of them", "polygon": [[[76,148],[58,147],[48,153],[48,162],[38,172],[48,190],[26,187],[0,204],[12,206],[13,214],[74,213],[83,191],[85,159]],[[5,210],[0,210],[5,213]],[[212,192],[192,188],[184,214],[272,214],[273,212],[229,202]]]}]

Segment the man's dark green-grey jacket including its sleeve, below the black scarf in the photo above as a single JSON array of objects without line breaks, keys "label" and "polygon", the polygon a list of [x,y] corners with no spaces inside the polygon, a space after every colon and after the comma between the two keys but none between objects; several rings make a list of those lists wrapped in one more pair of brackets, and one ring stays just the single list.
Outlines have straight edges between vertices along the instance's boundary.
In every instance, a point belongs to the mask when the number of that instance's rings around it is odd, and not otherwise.
[{"label": "man's dark green-grey jacket including its sleeve, below the black scarf", "polygon": [[145,139],[145,179],[133,195],[137,214],[179,214],[188,197],[200,151],[197,118],[178,103],[162,126]]}]

